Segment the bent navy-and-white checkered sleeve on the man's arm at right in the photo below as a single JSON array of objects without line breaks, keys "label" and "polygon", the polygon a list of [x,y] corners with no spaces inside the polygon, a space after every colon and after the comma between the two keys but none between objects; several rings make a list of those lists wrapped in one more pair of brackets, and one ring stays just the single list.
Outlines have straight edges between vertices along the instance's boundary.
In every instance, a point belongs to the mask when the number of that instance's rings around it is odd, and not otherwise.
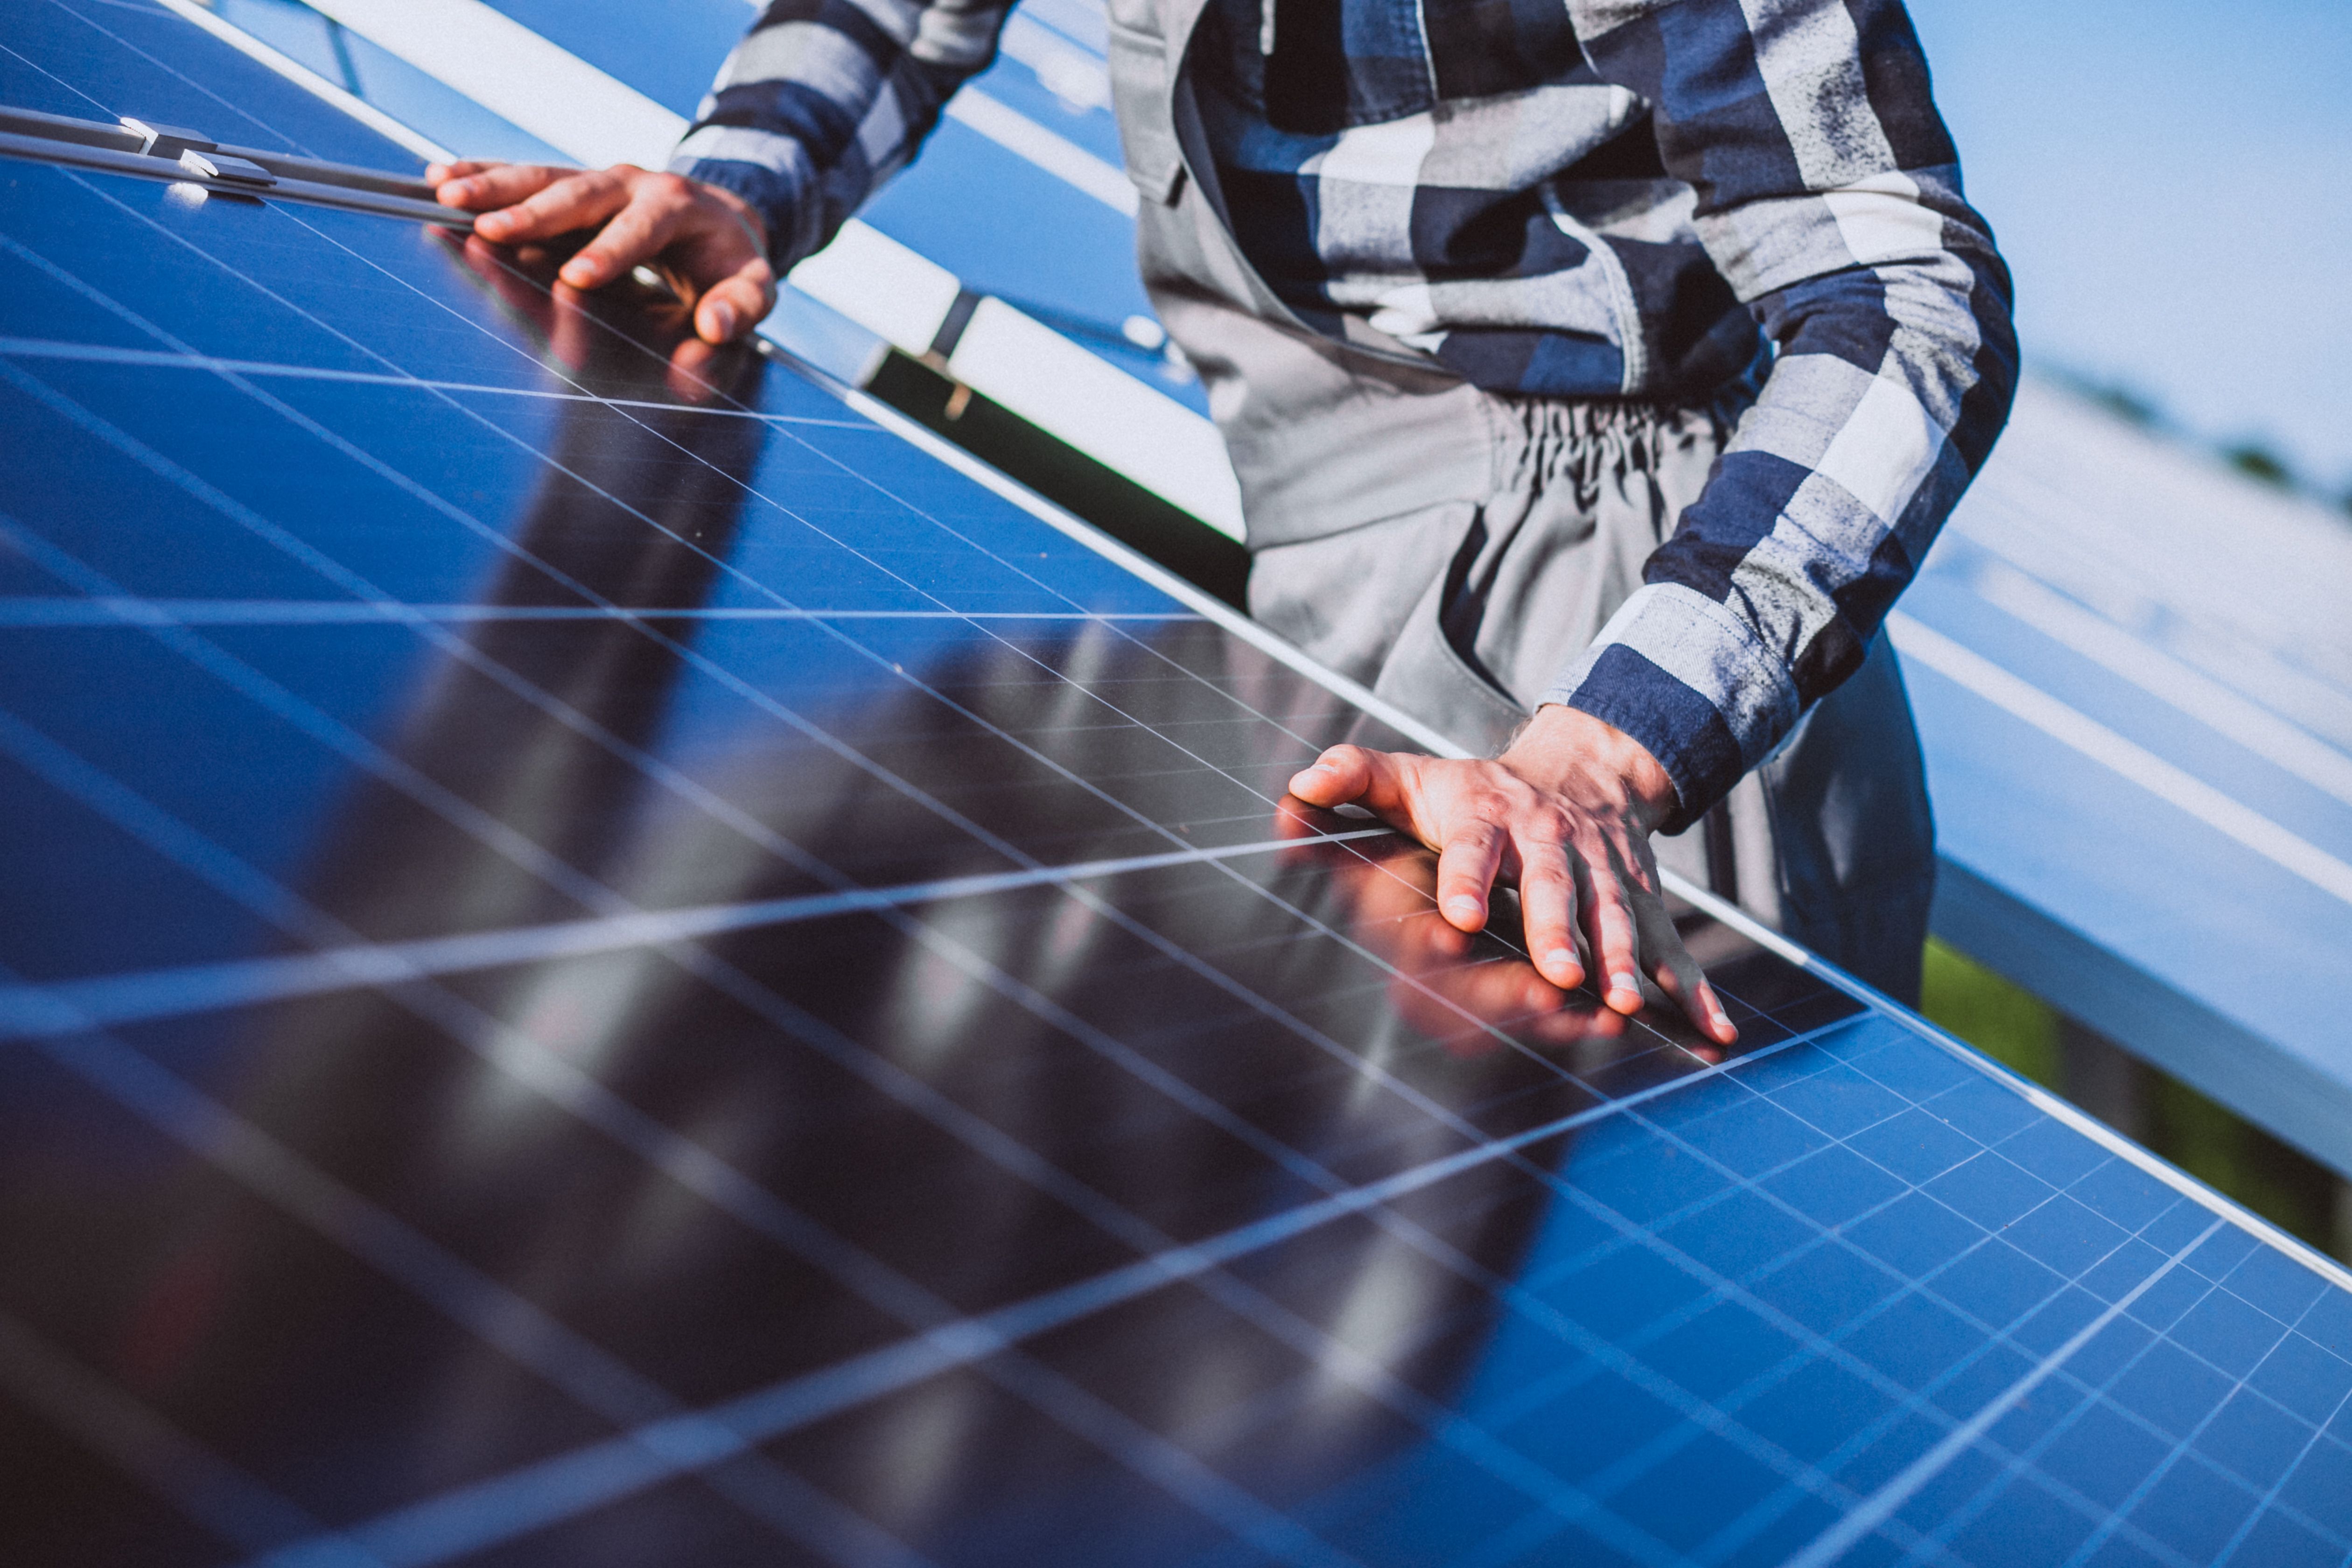
[{"label": "bent navy-and-white checkered sleeve on the man's arm at right", "polygon": [[2009,273],[1900,0],[1571,0],[1776,346],[1644,585],[1545,693],[1696,820],[1860,663],[2009,416]]}]

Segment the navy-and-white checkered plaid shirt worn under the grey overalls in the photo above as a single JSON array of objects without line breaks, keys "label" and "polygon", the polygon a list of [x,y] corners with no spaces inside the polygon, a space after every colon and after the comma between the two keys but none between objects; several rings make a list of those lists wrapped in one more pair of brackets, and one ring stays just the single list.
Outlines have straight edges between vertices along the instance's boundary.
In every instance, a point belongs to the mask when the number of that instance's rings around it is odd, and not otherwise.
[{"label": "navy-and-white checkered plaid shirt worn under the grey overalls", "polygon": [[[774,0],[673,169],[790,263],[1004,16]],[[1860,665],[2009,414],[2009,275],[1900,0],[1209,0],[1188,71],[1228,226],[1305,324],[1512,395],[1705,402],[1769,364],[1543,696],[1642,741],[1693,820]]]}]

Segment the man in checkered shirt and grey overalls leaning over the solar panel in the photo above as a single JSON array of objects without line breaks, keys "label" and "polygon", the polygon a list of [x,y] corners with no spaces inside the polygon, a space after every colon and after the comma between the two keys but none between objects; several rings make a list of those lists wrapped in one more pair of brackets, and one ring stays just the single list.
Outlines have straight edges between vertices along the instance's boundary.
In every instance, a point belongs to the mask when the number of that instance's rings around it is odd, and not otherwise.
[{"label": "man in checkered shirt and grey overalls leaning over the solar panel", "polygon": [[[456,165],[731,339],[995,52],[993,0],[776,0],[673,174]],[[1877,635],[2009,411],[2009,275],[1900,0],[1112,0],[1143,280],[1242,480],[1251,611],[1484,762],[1291,780],[1515,882],[1536,969],[1733,1030],[1668,860],[1898,997],[1933,884]],[[1578,947],[1583,938],[1583,947]]]}]

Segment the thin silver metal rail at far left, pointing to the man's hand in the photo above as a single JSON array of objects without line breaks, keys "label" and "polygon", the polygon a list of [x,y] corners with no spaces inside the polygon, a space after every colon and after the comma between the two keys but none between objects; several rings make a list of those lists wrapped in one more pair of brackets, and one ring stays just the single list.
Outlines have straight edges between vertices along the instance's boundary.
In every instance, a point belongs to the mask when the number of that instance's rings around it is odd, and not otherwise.
[{"label": "thin silver metal rail at far left, pointing to the man's hand", "polygon": [[115,125],[68,120],[0,103],[0,155],[202,186],[221,195],[280,197],[386,219],[470,230],[473,216],[442,207],[407,174],[212,141],[202,132],[125,115]]}]

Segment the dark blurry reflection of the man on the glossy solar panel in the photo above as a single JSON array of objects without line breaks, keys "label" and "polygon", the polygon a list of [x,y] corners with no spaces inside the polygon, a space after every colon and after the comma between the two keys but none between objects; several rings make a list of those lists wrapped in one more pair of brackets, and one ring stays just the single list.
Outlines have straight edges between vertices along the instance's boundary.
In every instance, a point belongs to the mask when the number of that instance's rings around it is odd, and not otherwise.
[{"label": "dark blurry reflection of the man on the glossy solar panel", "polygon": [[[828,1509],[938,1561],[1150,1561],[1425,1450],[1557,1124],[1700,1058],[1543,983],[1508,905],[1439,922],[1425,851],[1277,802],[1359,719],[1211,625],[710,618],[774,371],[661,301],[548,294],[546,259],[456,261],[595,400],[560,402],[482,614],[416,628],[299,947],[1096,870],[132,1030],[285,1154],[139,1166],[33,1342],[341,1523],[1517,1135],[609,1502],[746,1561]],[[529,614],[590,602],[628,614]],[[31,1211],[52,1180],[12,1171]],[[115,1486],[45,1474],[64,1512]],[[588,1519],[524,1554],[590,1561]]]}]

